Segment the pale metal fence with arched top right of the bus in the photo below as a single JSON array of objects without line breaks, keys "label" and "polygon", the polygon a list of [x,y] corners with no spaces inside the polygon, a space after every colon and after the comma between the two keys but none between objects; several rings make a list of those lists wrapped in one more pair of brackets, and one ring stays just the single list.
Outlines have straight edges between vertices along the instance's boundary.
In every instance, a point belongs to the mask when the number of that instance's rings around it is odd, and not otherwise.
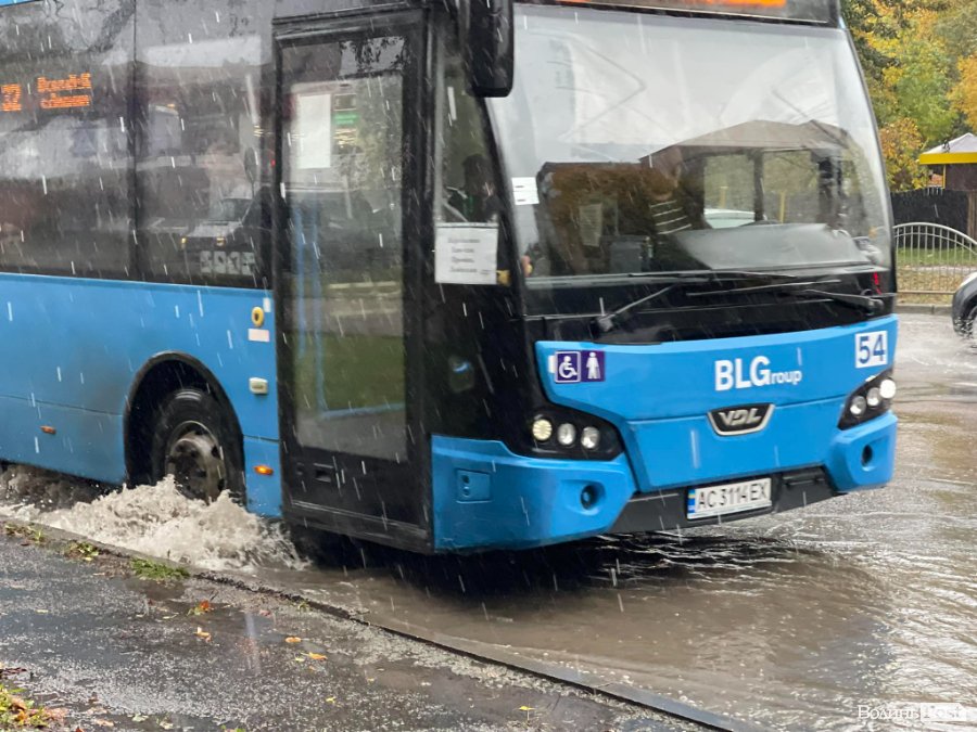
[{"label": "pale metal fence with arched top right of the bus", "polygon": [[900,223],[894,229],[901,295],[946,299],[977,271],[977,241],[939,223]]}]

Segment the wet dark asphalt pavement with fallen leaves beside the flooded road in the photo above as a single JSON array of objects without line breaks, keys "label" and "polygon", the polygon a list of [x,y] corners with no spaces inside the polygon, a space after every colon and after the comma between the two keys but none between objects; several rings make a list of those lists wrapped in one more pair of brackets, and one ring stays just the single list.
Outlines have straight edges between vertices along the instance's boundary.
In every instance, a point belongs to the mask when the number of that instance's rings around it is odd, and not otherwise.
[{"label": "wet dark asphalt pavement with fallen leaves beside the flooded road", "polygon": [[301,602],[63,549],[0,538],[0,668],[69,730],[691,729]]}]

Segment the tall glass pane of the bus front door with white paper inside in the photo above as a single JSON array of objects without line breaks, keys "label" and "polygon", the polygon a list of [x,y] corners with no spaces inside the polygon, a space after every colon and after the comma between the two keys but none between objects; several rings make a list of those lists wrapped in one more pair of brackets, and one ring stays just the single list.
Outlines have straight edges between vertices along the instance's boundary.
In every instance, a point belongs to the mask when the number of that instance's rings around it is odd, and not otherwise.
[{"label": "tall glass pane of the bus front door with white paper inside", "polygon": [[406,454],[404,56],[401,38],[283,53],[299,438],[390,460]]}]

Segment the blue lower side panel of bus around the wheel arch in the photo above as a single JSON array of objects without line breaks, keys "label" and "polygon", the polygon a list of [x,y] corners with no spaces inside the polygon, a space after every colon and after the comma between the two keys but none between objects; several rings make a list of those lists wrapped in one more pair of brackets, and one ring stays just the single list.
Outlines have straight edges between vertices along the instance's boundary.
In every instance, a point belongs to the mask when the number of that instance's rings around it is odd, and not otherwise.
[{"label": "blue lower side panel of bus around the wheel arch", "polygon": [[[264,313],[261,328],[252,322],[255,308]],[[122,481],[122,425],[135,380],[154,357],[178,354],[199,361],[227,394],[248,467],[277,468],[275,313],[266,291],[4,273],[0,338],[8,346],[0,376],[4,460]],[[267,395],[251,393],[252,377],[267,380]],[[278,474],[249,470],[249,499],[272,514]]]}]

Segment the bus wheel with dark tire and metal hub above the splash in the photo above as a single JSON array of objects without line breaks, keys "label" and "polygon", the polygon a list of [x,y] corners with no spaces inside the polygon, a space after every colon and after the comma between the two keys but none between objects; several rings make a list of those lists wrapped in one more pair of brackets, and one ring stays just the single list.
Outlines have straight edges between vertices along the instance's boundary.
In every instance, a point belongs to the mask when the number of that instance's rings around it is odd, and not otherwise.
[{"label": "bus wheel with dark tire and metal hub above the splash", "polygon": [[244,450],[227,410],[207,391],[186,387],[156,412],[150,448],[154,483],[173,475],[188,498],[211,503],[227,491],[243,503]]}]

